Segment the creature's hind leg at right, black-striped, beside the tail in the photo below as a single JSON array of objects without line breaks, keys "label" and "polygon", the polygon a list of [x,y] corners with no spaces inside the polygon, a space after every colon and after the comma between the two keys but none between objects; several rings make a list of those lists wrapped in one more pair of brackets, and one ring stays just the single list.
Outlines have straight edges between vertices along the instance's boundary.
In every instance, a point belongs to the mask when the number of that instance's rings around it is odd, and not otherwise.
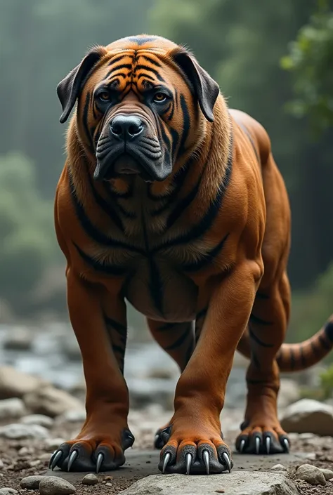
[{"label": "creature's hind leg at right, black-striped, beside the tail", "polygon": [[247,409],[236,448],[247,454],[289,451],[287,434],[278,421],[280,371],[275,356],[287,329],[290,288],[286,273],[269,291],[259,289],[249,319],[251,362],[247,371]]}]

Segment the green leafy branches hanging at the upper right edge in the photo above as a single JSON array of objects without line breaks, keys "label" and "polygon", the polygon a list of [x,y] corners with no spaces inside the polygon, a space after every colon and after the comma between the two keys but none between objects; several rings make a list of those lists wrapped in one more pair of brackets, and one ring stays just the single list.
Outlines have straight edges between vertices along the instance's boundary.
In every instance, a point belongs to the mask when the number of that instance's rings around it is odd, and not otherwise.
[{"label": "green leafy branches hanging at the upper right edge", "polygon": [[333,11],[328,1],[318,1],[318,11],[299,29],[281,65],[294,81],[296,98],[289,112],[308,116],[320,135],[333,124]]}]

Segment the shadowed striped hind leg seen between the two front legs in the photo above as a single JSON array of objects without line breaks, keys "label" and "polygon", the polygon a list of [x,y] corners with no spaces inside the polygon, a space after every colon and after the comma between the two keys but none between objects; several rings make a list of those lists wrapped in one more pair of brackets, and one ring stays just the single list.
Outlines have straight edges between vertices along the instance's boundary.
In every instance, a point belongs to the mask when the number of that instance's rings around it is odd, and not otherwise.
[{"label": "shadowed striped hind leg seen between the two front legs", "polygon": [[[195,334],[192,322],[163,323],[148,319],[148,326],[155,341],[172,357],[181,371],[188,364],[195,349]],[[155,434],[154,446],[162,449],[169,440],[170,425],[167,423]]]}]

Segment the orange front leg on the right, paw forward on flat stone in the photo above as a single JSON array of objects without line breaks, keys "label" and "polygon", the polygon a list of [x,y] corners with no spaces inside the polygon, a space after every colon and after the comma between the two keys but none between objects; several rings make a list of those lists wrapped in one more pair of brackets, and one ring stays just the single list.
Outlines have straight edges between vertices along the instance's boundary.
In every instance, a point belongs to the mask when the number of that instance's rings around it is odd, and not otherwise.
[{"label": "orange front leg on the right, paw forward on flat stone", "polygon": [[261,263],[245,261],[211,291],[197,347],[177,383],[171,435],[159,461],[163,473],[221,473],[233,466],[220,414],[261,275]]}]

